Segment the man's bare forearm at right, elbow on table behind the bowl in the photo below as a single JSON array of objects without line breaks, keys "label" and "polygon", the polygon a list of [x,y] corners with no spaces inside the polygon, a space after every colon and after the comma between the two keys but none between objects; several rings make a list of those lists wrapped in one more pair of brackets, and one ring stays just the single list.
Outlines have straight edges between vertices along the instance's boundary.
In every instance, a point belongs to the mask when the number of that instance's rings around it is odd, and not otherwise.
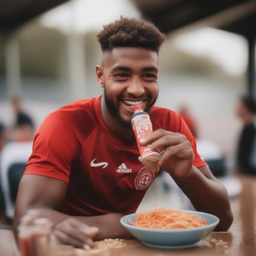
[{"label": "man's bare forearm at right, elbow on table behind the bowl", "polygon": [[173,177],[196,210],[216,215],[220,219],[217,230],[227,230],[233,216],[227,191],[221,183],[211,180],[195,166],[186,177]]}]

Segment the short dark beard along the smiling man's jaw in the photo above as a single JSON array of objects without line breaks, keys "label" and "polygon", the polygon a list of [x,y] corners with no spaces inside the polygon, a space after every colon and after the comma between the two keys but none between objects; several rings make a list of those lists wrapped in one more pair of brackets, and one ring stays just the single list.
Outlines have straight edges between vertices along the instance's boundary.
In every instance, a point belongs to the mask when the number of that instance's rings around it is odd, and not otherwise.
[{"label": "short dark beard along the smiling man's jaw", "polygon": [[[158,97],[158,91],[157,91],[157,97]],[[153,105],[157,101],[157,97],[156,97],[156,99],[154,99],[154,102],[152,102],[151,104],[146,106],[144,112],[148,113],[150,111],[150,109],[153,107]],[[149,100],[150,99],[151,98],[149,98]],[[131,128],[132,129],[131,120],[127,121],[122,118],[122,116],[119,114],[117,108],[113,104],[113,101],[108,97],[105,87],[104,87],[104,101],[108,108],[108,112],[111,113],[111,115],[116,119],[116,121],[119,122],[119,124],[122,125],[123,128]]]}]

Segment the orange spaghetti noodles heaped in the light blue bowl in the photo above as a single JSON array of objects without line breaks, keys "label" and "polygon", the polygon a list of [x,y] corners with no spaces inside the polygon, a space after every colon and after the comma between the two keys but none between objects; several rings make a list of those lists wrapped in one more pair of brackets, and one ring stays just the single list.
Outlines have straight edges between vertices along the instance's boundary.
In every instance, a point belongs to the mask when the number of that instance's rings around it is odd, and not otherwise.
[{"label": "orange spaghetti noodles heaped in the light blue bowl", "polygon": [[129,221],[135,227],[147,227],[156,229],[180,229],[202,227],[207,225],[207,221],[198,215],[189,214],[182,211],[164,208],[151,208],[139,212],[135,221]]}]

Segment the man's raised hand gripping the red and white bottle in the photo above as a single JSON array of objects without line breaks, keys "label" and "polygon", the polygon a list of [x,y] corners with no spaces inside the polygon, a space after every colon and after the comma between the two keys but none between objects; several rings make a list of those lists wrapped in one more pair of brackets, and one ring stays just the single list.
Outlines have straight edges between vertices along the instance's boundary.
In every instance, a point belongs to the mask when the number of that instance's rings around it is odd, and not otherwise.
[{"label": "man's raised hand gripping the red and white bottle", "polygon": [[[140,139],[140,144],[153,149],[160,147],[165,149],[159,165],[170,175],[175,177],[189,175],[194,152],[185,135],[158,129]],[[141,161],[141,157],[139,160]]]}]

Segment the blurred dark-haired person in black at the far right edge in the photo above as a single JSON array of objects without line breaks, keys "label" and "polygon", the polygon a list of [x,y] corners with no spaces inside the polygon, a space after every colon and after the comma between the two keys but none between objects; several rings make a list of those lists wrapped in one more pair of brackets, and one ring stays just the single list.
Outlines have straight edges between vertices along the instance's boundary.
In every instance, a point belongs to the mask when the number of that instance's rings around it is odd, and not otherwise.
[{"label": "blurred dark-haired person in black at the far right edge", "polygon": [[256,100],[251,96],[242,96],[236,103],[235,111],[243,123],[238,143],[237,170],[256,175]]}]

